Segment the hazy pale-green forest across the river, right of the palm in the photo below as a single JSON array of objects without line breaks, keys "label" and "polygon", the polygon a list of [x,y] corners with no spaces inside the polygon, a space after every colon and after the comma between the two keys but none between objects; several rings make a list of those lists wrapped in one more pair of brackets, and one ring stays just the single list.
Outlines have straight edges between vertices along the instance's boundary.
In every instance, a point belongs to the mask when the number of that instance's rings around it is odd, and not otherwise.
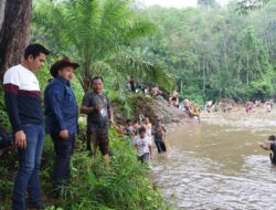
[{"label": "hazy pale-green forest across the river, right of the palm", "polygon": [[274,97],[276,1],[246,17],[236,7],[145,9],[142,15],[155,20],[160,33],[139,45],[173,70],[183,96],[202,102]]}]

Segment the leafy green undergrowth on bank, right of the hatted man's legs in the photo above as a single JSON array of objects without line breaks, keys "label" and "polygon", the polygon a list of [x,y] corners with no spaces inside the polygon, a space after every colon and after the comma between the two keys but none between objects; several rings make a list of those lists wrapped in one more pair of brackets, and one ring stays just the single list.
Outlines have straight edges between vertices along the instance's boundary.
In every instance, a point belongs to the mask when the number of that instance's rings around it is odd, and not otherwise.
[{"label": "leafy green undergrowth on bank, right of the hatted man's legs", "polygon": [[99,154],[95,158],[76,151],[72,159],[71,196],[62,207],[73,209],[168,209],[158,190],[153,189],[146,165],[137,161],[129,140],[112,132],[112,162],[105,166]]}]

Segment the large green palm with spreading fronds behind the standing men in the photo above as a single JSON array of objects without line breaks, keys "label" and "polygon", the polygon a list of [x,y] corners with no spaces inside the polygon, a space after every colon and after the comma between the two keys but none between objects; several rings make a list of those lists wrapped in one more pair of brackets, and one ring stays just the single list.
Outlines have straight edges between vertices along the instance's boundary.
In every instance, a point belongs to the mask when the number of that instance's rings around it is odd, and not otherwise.
[{"label": "large green palm with spreading fronds behind the standing men", "polygon": [[131,0],[43,2],[38,4],[33,19],[42,32],[36,36],[46,38],[52,49],[72,55],[81,64],[77,77],[84,92],[89,90],[93,76],[107,72],[152,78],[158,69],[134,56],[130,43],[157,33],[158,28],[139,18],[132,6]]}]

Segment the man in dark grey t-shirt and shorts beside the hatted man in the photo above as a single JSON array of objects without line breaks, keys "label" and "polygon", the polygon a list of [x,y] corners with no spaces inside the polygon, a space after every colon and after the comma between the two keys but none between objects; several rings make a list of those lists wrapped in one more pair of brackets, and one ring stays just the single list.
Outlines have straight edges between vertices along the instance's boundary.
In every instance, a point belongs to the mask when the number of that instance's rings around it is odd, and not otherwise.
[{"label": "man in dark grey t-shirt and shorts beside the hatted man", "polygon": [[113,112],[108,97],[103,94],[104,81],[102,77],[92,80],[93,91],[85,94],[81,113],[87,115],[87,150],[93,153],[99,147],[106,164],[109,162],[108,124],[113,122]]}]

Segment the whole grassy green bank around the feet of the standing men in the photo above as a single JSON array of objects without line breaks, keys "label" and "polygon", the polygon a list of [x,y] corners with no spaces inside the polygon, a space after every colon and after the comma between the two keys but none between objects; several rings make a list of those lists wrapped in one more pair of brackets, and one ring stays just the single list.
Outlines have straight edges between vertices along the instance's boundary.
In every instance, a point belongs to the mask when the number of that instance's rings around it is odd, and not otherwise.
[{"label": "whole grassy green bank around the feet of the standing men", "polygon": [[[76,149],[72,158],[72,185],[63,189],[63,197],[57,201],[51,195],[54,154],[53,144],[46,137],[41,180],[47,209],[168,209],[149,178],[148,167],[137,161],[136,151],[129,139],[121,139],[112,130],[110,147],[113,160],[110,166],[106,167],[99,154],[95,158],[88,157],[84,151],[85,143],[76,139]],[[18,168],[15,160],[15,153],[7,155],[7,158],[1,160],[1,210],[10,209],[13,179]]]}]

